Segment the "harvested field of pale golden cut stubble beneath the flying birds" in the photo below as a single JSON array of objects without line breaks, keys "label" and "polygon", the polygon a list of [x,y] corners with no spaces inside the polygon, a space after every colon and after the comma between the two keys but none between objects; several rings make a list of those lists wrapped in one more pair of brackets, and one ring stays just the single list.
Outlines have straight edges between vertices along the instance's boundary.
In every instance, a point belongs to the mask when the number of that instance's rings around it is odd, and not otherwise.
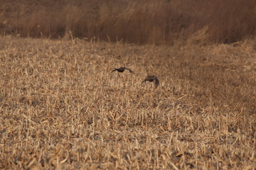
[{"label": "harvested field of pale golden cut stubble beneath the flying birds", "polygon": [[255,44],[1,37],[0,168],[255,169]]}]

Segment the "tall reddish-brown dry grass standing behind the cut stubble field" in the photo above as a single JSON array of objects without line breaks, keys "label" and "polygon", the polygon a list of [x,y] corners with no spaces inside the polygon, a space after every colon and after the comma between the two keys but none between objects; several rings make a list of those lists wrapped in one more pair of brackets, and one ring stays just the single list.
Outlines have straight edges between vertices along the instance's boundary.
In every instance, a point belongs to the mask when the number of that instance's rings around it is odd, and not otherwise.
[{"label": "tall reddish-brown dry grass standing behind the cut stubble field", "polygon": [[208,27],[210,42],[256,35],[255,0],[31,0],[0,3],[0,33],[173,44]]}]

